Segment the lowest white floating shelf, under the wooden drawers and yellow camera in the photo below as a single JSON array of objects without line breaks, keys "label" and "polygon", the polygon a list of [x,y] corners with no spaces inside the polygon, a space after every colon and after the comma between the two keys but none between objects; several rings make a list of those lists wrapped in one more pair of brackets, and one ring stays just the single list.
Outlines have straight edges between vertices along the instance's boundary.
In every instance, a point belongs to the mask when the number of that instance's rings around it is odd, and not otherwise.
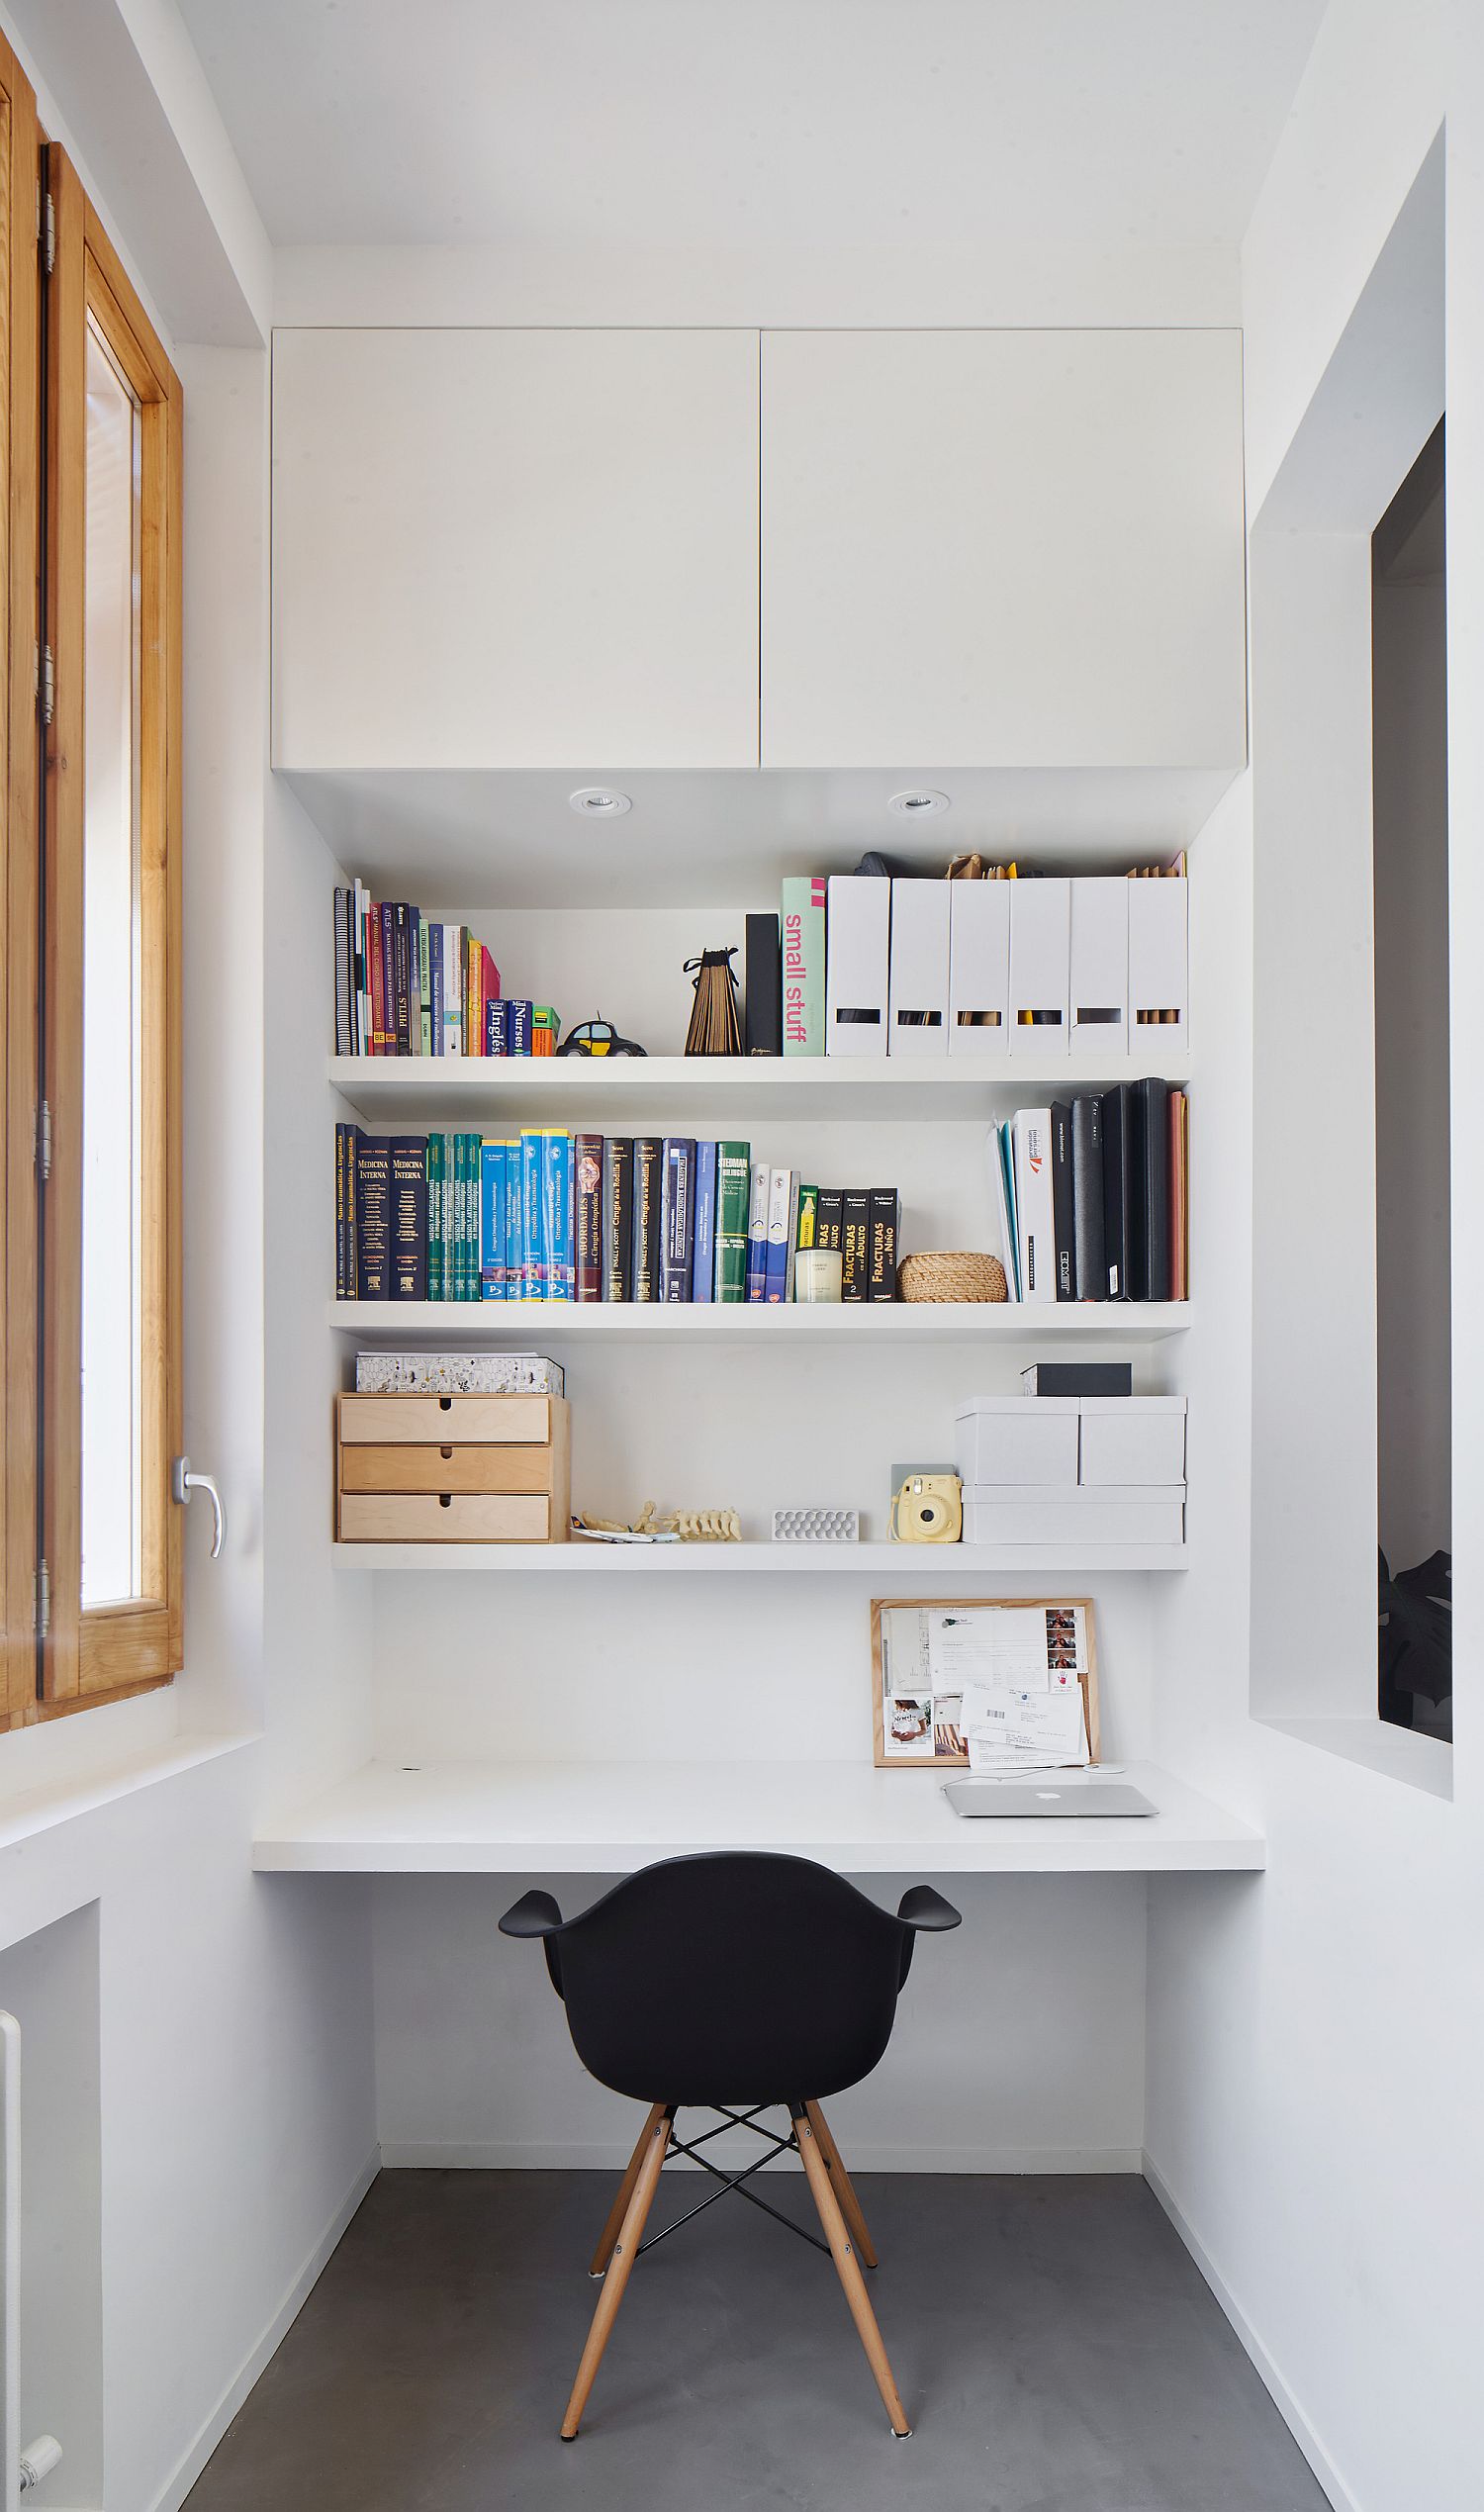
[{"label": "lowest white floating shelf, under the wooden drawers and yellow camera", "polygon": [[1183,1570],[1185,1545],[334,1545],[339,1570],[545,1570],[552,1578],[891,1578],[896,1585]]}]

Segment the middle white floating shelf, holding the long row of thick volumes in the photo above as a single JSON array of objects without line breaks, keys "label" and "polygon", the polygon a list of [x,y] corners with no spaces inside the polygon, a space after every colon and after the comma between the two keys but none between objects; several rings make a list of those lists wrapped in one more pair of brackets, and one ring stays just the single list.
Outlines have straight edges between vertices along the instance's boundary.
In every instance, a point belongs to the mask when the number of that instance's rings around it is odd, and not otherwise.
[{"label": "middle white floating shelf, holding the long row of thick volumes", "polygon": [[389,1349],[439,1349],[444,1344],[540,1346],[588,1341],[630,1344],[748,1344],[768,1336],[791,1344],[949,1344],[949,1341],[1120,1341],[1158,1344],[1190,1326],[1188,1301],[1065,1301],[1022,1306],[1004,1301],[942,1301],[911,1306],[635,1306],[633,1301],[457,1301],[457,1299],[331,1299],[329,1324],[357,1341],[374,1336]]}]

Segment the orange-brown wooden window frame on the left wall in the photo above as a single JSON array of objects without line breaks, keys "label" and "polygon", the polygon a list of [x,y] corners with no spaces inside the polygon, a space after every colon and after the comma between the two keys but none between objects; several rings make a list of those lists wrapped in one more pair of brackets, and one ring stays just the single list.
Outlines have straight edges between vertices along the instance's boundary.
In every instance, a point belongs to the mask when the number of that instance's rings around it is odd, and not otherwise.
[{"label": "orange-brown wooden window frame on the left wall", "polygon": [[[181,435],[178,377],[0,43],[5,445],[5,1475],[0,1728],[171,1683],[183,1663]],[[55,221],[50,276],[30,251]],[[141,412],[141,1595],[83,1610],[85,377],[95,324]],[[45,367],[45,374],[43,374]],[[40,575],[45,570],[45,605]],[[55,671],[43,721],[38,618]],[[50,1168],[40,1171],[40,1113]],[[43,1575],[38,1575],[43,1573]]]}]

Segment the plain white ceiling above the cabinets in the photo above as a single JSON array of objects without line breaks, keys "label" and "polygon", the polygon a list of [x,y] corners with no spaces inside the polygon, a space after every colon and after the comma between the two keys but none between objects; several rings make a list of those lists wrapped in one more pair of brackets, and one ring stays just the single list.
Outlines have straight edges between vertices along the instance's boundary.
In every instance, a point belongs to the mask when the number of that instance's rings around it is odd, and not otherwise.
[{"label": "plain white ceiling above the cabinets", "polygon": [[276,244],[1235,246],[1323,0],[178,0]]}]

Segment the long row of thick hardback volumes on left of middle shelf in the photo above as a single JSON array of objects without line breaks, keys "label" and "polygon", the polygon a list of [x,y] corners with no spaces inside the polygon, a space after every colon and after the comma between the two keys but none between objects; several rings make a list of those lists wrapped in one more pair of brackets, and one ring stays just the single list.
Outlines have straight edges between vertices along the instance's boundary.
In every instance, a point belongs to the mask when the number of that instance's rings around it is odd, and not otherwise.
[{"label": "long row of thick hardback volumes on left of middle shelf", "polygon": [[751,1143],[336,1125],[334,1211],[336,1299],[776,1306],[814,1246],[846,1301],[896,1299],[896,1188],[811,1186]]}]

